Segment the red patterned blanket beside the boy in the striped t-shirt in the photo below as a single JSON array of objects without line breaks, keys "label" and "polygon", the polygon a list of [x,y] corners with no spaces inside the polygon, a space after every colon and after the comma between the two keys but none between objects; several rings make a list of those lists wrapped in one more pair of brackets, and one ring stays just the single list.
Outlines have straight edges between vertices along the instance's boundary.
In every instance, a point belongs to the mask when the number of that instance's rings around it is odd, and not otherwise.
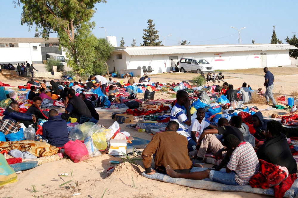
[{"label": "red patterned blanket beside the boy in the striped t-shirt", "polygon": [[273,165],[264,160],[259,160],[260,169],[257,174],[249,180],[252,188],[268,189],[273,186],[274,197],[282,198],[285,192],[291,188],[294,180],[297,179],[296,173],[288,174],[278,165]]}]

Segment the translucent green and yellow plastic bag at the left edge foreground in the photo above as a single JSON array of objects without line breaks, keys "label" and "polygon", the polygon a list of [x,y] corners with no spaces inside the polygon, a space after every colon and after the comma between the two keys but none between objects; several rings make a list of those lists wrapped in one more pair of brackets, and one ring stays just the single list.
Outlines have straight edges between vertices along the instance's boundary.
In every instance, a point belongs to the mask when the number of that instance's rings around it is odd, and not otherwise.
[{"label": "translucent green and yellow plastic bag at the left edge foreground", "polygon": [[3,186],[8,183],[13,183],[17,181],[17,174],[15,171],[8,165],[6,159],[2,154],[0,154],[0,186]]}]

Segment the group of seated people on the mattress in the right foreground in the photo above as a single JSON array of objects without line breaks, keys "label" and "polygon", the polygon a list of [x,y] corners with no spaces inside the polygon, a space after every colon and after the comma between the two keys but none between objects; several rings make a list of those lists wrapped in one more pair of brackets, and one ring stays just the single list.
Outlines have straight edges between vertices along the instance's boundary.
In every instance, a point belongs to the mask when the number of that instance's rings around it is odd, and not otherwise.
[{"label": "group of seated people on the mattress in the right foreground", "polygon": [[[170,177],[193,180],[209,178],[227,185],[247,185],[259,170],[259,159],[284,166],[289,174],[297,172],[296,160],[292,155],[296,150],[290,150],[286,139],[298,136],[296,128],[285,128],[278,121],[264,120],[259,111],[253,115],[253,127],[265,141],[256,148],[255,138],[247,125],[242,123],[241,117],[233,116],[229,122],[226,118],[220,118],[218,126],[213,126],[204,120],[203,108],[199,108],[197,118],[191,120],[189,107],[187,92],[180,90],[166,131],[153,136],[142,152],[148,175],[157,171]],[[210,129],[205,129],[207,127]],[[215,159],[223,157],[221,163],[215,168],[190,173],[193,167],[202,167],[207,151],[212,152]],[[155,170],[150,168],[152,156]],[[220,171],[223,167],[225,172]]]}]

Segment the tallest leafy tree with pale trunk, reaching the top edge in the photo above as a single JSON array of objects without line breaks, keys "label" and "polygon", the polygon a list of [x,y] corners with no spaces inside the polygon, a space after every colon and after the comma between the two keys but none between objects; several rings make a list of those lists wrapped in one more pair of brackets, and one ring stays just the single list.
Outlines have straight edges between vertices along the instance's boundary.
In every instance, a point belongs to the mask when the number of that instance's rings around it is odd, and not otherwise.
[{"label": "tallest leafy tree with pale trunk, reaching the top edge", "polygon": [[29,31],[33,24],[35,37],[49,38],[57,33],[60,48],[63,46],[68,58],[67,65],[79,75],[93,73],[96,37],[91,34],[95,23],[90,22],[96,3],[106,0],[14,0],[15,6],[23,5],[21,25],[27,23]]}]

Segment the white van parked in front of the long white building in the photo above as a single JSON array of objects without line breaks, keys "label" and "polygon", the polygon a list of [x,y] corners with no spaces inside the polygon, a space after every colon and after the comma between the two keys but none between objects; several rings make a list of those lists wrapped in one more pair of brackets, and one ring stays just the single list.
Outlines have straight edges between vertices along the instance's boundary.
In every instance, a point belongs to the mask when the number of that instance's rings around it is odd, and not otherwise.
[{"label": "white van parked in front of the long white building", "polygon": [[193,73],[208,73],[214,71],[212,65],[205,59],[184,57],[179,61],[179,69],[181,72],[190,71]]}]

